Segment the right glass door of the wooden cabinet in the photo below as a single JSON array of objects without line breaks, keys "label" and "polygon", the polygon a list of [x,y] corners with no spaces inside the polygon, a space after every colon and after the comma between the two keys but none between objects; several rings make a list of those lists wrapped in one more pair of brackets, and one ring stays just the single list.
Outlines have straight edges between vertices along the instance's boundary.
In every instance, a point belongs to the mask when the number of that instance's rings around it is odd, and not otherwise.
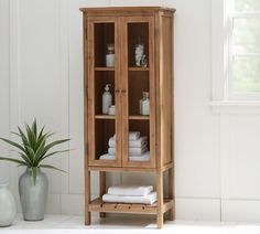
[{"label": "right glass door of the wooden cabinet", "polygon": [[154,168],[154,19],[126,17],[122,36],[122,163]]}]

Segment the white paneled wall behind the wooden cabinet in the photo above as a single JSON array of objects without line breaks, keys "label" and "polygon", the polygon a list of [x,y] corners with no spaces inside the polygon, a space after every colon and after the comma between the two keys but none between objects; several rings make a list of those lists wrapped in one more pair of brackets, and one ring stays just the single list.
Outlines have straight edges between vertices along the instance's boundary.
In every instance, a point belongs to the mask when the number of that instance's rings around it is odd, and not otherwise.
[{"label": "white paneled wall behind the wooden cabinet", "polygon": [[[212,111],[212,28],[208,0],[139,0],[175,14],[176,217],[259,221],[259,114]],[[37,117],[69,137],[65,157],[52,159],[68,174],[48,172],[48,213],[83,214],[83,43],[80,7],[132,6],[130,0],[0,1],[0,135]],[[136,4],[136,3],[134,3]],[[136,4],[137,6],[137,4]],[[249,124],[248,124],[249,121]],[[4,145],[0,152],[9,153]],[[0,179],[18,196],[18,171],[0,163]],[[93,190],[97,193],[94,174]],[[151,174],[115,174],[110,181],[149,183]],[[248,210],[247,210],[248,209]],[[247,210],[247,212],[245,212]],[[243,215],[241,215],[243,211]]]}]

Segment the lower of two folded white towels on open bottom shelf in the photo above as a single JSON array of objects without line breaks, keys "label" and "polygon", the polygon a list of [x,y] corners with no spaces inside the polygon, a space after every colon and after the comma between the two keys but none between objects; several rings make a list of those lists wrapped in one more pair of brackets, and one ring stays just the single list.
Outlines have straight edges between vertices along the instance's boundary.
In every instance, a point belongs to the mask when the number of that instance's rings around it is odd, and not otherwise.
[{"label": "lower of two folded white towels on open bottom shelf", "polygon": [[138,204],[153,204],[156,201],[156,192],[151,192],[147,195],[102,195],[104,202],[116,203],[138,203]]}]

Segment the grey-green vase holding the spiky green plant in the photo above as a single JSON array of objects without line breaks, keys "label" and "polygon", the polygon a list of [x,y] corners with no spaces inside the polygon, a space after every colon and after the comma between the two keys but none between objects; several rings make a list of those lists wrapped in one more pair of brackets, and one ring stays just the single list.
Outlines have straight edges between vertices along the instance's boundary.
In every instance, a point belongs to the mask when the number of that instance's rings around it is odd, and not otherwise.
[{"label": "grey-green vase holding the spiky green plant", "polygon": [[48,181],[45,173],[37,170],[36,182],[32,182],[32,169],[26,171],[19,179],[19,194],[22,204],[23,219],[25,221],[44,220],[47,201]]}]

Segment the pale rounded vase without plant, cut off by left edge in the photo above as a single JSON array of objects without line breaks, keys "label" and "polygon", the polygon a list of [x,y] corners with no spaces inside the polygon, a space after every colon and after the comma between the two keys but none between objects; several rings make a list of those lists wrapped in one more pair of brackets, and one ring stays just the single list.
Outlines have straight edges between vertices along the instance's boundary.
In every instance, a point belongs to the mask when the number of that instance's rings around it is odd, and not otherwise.
[{"label": "pale rounded vase without plant, cut off by left edge", "polygon": [[17,203],[6,183],[0,183],[0,226],[10,226],[17,216]]}]

